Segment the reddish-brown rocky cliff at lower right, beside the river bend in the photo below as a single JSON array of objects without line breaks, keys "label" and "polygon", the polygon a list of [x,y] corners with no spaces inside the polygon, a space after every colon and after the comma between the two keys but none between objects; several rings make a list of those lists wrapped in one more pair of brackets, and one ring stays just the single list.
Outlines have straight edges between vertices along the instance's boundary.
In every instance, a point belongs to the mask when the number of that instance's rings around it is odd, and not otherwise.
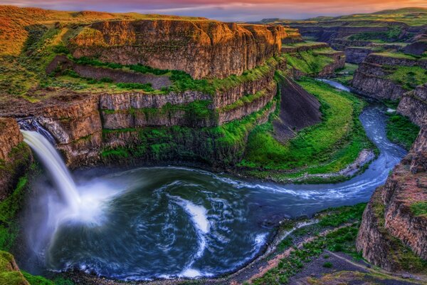
[{"label": "reddish-brown rocky cliff at lower right, beside the river bend", "polygon": [[417,212],[416,207],[426,203],[427,128],[424,126],[386,185],[371,197],[359,229],[357,249],[365,259],[388,271],[425,270],[418,266],[417,258],[427,259],[427,215]]}]

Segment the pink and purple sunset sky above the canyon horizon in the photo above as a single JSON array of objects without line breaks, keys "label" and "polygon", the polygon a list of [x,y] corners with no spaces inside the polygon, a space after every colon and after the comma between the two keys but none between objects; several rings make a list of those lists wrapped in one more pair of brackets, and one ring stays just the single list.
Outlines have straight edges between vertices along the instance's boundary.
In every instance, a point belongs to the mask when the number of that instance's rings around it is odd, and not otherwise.
[{"label": "pink and purple sunset sky above the canyon horizon", "polygon": [[312,16],[427,7],[427,0],[0,0],[0,4],[67,11],[132,11],[204,16],[221,21],[258,21],[265,18],[307,19]]}]

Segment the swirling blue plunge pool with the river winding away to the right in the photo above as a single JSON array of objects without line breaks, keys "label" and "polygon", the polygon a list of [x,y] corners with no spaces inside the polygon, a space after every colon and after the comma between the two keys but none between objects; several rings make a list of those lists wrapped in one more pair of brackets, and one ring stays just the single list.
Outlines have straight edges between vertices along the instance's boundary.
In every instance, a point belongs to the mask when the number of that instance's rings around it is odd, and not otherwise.
[{"label": "swirling blue plunge pool with the river winding away to the right", "polygon": [[[35,274],[79,269],[123,280],[236,270],[262,252],[280,220],[369,200],[405,154],[386,139],[385,117],[377,105],[364,110],[360,119],[380,155],[363,174],[335,185],[277,185],[143,167],[78,175],[80,201],[70,205],[53,170],[33,182],[37,195],[23,222],[32,254],[19,265]],[[42,265],[34,266],[35,260]]]}]

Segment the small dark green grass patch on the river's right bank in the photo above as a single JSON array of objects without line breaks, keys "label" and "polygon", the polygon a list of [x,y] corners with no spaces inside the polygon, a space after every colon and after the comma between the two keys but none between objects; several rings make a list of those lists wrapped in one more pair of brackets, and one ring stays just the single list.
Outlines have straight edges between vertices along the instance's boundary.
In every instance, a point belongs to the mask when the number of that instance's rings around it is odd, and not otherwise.
[{"label": "small dark green grass patch on the river's right bank", "polygon": [[409,150],[415,141],[420,128],[403,115],[390,115],[387,120],[387,138]]}]

